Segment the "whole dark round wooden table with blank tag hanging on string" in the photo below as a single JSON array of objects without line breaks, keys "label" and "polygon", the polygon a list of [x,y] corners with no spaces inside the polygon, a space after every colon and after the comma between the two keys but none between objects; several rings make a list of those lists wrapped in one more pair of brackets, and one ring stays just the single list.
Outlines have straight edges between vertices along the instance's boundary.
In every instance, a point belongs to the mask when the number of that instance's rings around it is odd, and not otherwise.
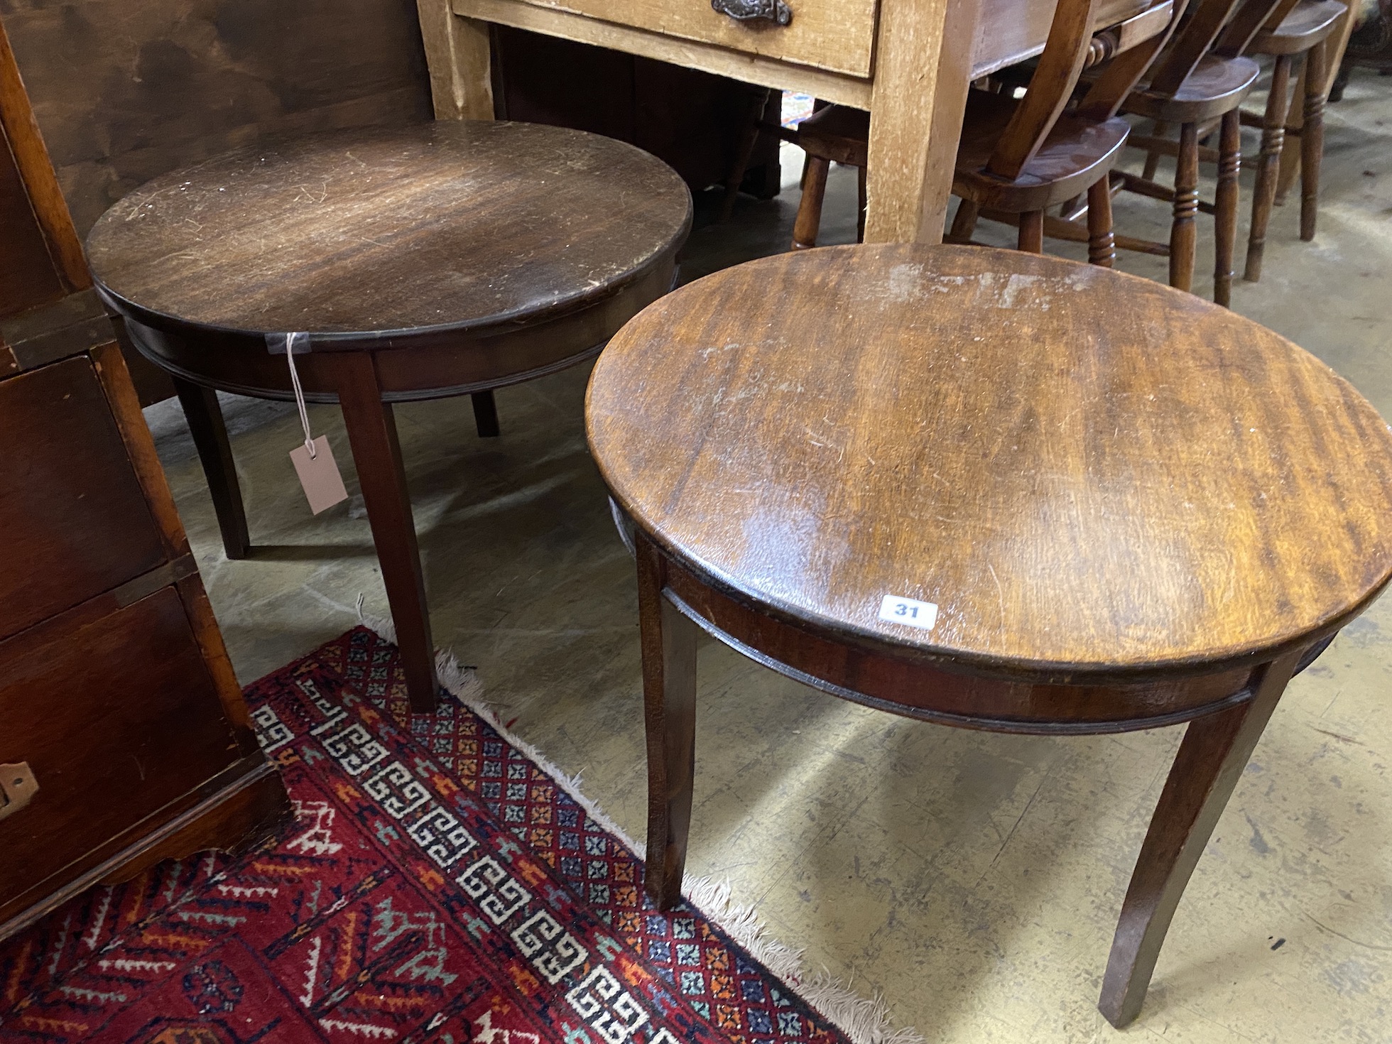
[{"label": "whole dark round wooden table with blank tag hanging on string", "polygon": [[690,213],[681,178],[631,145],[430,122],[156,178],[102,216],[88,260],[174,377],[228,558],[251,541],[213,390],[292,398],[284,348],[267,345],[309,334],[305,398],[342,408],[411,704],[429,711],[434,646],[391,404],[468,393],[479,434],[497,434],[493,388],[593,356],[671,288]]}]

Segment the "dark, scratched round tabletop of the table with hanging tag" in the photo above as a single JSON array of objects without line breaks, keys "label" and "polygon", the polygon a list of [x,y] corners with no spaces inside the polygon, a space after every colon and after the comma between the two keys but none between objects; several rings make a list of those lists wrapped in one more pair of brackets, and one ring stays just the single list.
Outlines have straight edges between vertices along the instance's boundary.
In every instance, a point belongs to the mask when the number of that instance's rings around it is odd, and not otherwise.
[{"label": "dark, scratched round tabletop of the table with hanging tag", "polygon": [[690,195],[660,160],[555,127],[335,131],[156,178],[92,228],[127,315],[216,330],[487,333],[582,308],[670,259]]}]

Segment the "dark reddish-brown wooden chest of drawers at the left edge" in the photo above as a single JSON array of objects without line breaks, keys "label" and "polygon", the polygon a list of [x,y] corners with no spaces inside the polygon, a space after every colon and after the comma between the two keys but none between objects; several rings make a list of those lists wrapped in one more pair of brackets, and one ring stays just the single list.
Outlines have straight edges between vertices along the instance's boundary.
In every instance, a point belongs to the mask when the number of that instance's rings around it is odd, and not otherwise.
[{"label": "dark reddish-brown wooden chest of drawers at the left edge", "polygon": [[287,810],[0,28],[0,937]]}]

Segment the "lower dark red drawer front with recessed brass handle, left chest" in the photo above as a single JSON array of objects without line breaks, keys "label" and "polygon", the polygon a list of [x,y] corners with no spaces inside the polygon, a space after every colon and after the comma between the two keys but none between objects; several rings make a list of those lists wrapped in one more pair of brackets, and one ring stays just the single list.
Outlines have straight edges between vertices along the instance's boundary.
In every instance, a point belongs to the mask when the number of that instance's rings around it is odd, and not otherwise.
[{"label": "lower dark red drawer front with recessed brass handle, left chest", "polygon": [[[96,624],[0,644],[0,763],[39,791],[0,820],[10,901],[241,757],[173,587]],[[32,633],[32,632],[31,632]]]}]

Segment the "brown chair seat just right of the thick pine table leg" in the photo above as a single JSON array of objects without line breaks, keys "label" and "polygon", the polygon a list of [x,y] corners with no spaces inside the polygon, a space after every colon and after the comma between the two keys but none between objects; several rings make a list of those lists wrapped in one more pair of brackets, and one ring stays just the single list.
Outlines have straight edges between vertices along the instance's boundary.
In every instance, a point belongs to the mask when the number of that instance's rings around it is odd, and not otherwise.
[{"label": "brown chair seat just right of the thick pine table leg", "polygon": [[1005,95],[969,93],[952,180],[956,195],[1012,213],[1063,203],[1111,170],[1130,132],[1130,125],[1115,117],[1097,122],[1061,116],[1034,159],[1015,181],[1006,181],[987,173],[986,164],[1018,106]]}]

